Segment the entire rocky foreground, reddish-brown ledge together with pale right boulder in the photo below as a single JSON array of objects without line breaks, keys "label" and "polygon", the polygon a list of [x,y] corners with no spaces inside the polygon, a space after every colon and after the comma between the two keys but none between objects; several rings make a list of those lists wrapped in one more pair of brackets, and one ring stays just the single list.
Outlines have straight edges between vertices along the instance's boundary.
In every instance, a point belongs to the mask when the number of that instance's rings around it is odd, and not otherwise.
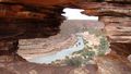
[{"label": "entire rocky foreground, reddish-brown ledge together with pale right boulder", "polygon": [[95,64],[83,67],[57,66],[28,62],[0,63],[1,74],[130,74],[131,63],[111,52],[105,57],[95,58]]}]

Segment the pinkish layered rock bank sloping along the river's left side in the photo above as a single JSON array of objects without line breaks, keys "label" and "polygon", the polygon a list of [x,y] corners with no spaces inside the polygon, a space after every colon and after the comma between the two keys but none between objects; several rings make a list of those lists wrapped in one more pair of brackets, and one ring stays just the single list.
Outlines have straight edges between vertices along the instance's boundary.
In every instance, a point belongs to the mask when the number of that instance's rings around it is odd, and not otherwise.
[{"label": "pinkish layered rock bank sloping along the river's left side", "polygon": [[20,50],[17,53],[24,59],[33,59],[39,55],[47,55],[50,53],[58,52],[62,49],[70,48],[76,42],[75,35],[71,35],[68,38],[59,38],[53,36],[48,39],[26,39],[20,40]]}]

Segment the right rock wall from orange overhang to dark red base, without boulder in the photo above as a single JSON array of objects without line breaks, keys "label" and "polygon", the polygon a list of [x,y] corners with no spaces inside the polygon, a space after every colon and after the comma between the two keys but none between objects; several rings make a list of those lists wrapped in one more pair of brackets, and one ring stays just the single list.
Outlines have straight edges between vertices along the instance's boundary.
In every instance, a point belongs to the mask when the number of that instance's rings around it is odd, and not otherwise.
[{"label": "right rock wall from orange overhang to dark red base, without boulder", "polygon": [[110,41],[110,48],[118,53],[130,54],[131,42],[131,1],[130,0],[105,0],[102,3],[80,4],[87,15],[99,16],[105,24],[104,30]]}]

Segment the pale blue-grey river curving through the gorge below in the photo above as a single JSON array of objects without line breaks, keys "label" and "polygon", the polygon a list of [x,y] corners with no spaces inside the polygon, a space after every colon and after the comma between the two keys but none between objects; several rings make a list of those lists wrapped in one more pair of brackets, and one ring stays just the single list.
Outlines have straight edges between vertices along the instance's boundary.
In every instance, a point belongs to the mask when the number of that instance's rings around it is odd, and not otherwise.
[{"label": "pale blue-grey river curving through the gorge below", "polygon": [[35,62],[35,63],[48,64],[48,63],[51,63],[52,61],[64,59],[67,55],[70,55],[75,51],[82,50],[83,48],[84,48],[83,38],[81,36],[78,36],[78,41],[74,44],[72,48],[63,49],[61,51],[50,53],[47,55],[41,55],[41,57],[34,58],[34,59],[29,59],[28,61]]}]

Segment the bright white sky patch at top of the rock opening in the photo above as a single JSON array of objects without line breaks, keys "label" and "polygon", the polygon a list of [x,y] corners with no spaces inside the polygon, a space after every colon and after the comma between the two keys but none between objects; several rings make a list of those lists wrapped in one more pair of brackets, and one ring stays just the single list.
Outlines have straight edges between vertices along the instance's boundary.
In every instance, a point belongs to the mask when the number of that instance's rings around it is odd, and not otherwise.
[{"label": "bright white sky patch at top of the rock opening", "polygon": [[87,16],[85,14],[82,14],[81,13],[82,11],[84,11],[84,10],[66,8],[63,10],[63,12],[66,12],[66,14],[62,14],[62,15],[67,16],[68,20],[94,20],[94,21],[98,21],[97,16]]}]

